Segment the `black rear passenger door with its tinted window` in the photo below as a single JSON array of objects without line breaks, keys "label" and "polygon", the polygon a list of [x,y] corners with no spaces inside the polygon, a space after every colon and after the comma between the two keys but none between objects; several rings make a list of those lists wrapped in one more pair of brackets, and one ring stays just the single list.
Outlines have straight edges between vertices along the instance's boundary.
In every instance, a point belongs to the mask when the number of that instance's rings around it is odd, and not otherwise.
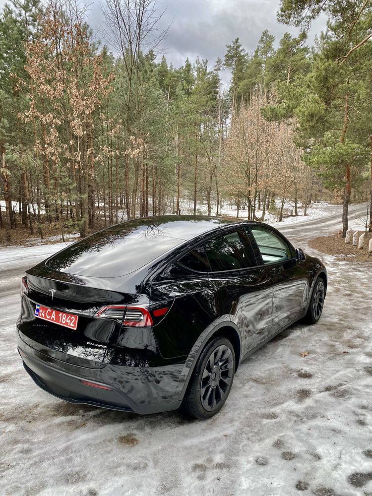
[{"label": "black rear passenger door with its tinted window", "polygon": [[265,267],[257,266],[248,233],[235,228],[205,243],[221,314],[242,335],[242,356],[264,341],[272,326],[273,290]]}]

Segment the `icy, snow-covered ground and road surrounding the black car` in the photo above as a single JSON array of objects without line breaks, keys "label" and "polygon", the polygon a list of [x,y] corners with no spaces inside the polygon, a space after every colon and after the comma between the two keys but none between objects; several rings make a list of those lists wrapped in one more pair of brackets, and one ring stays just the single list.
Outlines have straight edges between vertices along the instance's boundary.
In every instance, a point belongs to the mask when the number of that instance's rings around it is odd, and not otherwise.
[{"label": "icy, snow-covered ground and road surrounding the black car", "polygon": [[[311,237],[340,229],[340,207],[325,210],[283,232],[307,249]],[[352,222],[362,211],[353,206]],[[241,364],[222,411],[191,421],[70,405],[24,372],[19,279],[62,246],[0,249],[1,494],[372,495],[369,266],[308,249],[328,269],[318,324],[274,338]]]}]

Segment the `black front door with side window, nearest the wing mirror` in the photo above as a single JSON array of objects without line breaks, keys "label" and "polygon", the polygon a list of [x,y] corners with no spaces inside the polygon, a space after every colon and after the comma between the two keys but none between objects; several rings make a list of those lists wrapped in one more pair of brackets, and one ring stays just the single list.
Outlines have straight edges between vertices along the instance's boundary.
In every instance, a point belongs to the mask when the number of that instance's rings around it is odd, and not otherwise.
[{"label": "black front door with side window, nearest the wing mirror", "polygon": [[307,271],[301,270],[292,246],[279,233],[270,228],[257,226],[250,228],[256,243],[256,258],[266,270],[273,286],[273,325],[268,336],[288,326],[301,317],[305,311],[309,295]]}]

